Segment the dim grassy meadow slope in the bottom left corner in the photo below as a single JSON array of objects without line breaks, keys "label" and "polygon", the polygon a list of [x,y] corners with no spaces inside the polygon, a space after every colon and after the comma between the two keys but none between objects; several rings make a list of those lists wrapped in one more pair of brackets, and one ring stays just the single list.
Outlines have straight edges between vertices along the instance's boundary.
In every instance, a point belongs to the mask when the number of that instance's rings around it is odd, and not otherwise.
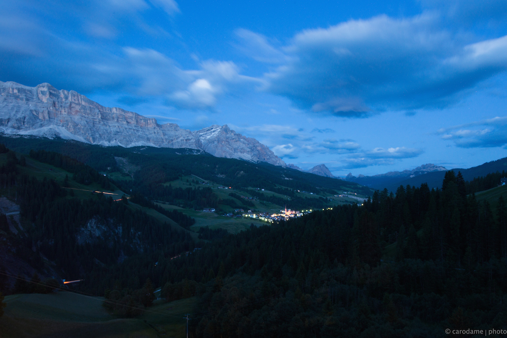
[{"label": "dim grassy meadow slope in the bottom left corner", "polygon": [[[71,292],[5,297],[0,336],[10,337],[184,337],[184,315],[194,298],[155,305],[140,318],[117,319],[102,307],[102,297]],[[157,332],[158,331],[158,332]]]}]

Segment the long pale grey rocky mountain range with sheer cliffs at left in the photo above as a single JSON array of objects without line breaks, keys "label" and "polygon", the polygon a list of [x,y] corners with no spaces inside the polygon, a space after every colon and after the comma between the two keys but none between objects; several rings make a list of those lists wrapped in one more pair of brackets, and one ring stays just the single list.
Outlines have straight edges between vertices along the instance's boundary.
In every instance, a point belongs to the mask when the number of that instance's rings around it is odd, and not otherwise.
[{"label": "long pale grey rocky mountain range with sheer cliffs at left", "polygon": [[0,81],[0,132],[104,146],[200,149],[216,157],[285,166],[267,146],[227,125],[194,132],[173,123],[160,125],[155,119],[104,107],[73,90],[58,90],[48,83],[28,87]]}]

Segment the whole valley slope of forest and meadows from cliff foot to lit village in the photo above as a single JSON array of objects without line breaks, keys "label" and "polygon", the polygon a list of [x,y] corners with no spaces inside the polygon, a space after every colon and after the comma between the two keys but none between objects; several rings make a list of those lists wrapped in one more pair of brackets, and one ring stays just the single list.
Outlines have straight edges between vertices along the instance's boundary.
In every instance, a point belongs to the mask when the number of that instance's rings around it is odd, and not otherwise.
[{"label": "whole valley slope of forest and meadows from cliff foot to lit village", "polygon": [[[103,147],[70,140],[30,137],[0,136],[0,141],[43,162],[58,165],[62,162],[64,168],[73,172],[73,178],[81,182],[89,179],[86,168],[93,168],[114,179],[124,192],[186,209],[214,208],[222,214],[246,207],[271,213],[284,206],[293,210],[322,209],[337,202],[357,203],[353,199],[332,199],[344,191],[364,197],[372,194],[372,190],[357,183],[267,163],[217,158],[209,154],[194,155],[193,149]],[[64,160],[48,155],[56,153],[64,155]],[[83,162],[86,166],[76,167],[73,161]],[[171,184],[183,177],[190,177],[194,185]],[[196,183],[196,178],[206,184]],[[107,182],[105,177],[95,179],[101,180],[101,186]],[[209,182],[215,184],[215,191],[211,190],[207,184]],[[261,205],[252,205],[250,201],[245,204],[242,198],[220,196],[216,191],[218,186],[232,187],[241,195],[246,193],[255,197]],[[265,190],[266,194],[256,189]]]}]

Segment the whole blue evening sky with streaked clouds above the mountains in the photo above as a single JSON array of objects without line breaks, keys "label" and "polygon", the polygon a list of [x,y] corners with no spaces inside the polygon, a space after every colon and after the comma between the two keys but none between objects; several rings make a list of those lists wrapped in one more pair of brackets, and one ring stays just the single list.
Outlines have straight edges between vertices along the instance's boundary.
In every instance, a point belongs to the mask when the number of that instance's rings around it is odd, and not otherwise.
[{"label": "whole blue evening sky with streaked clouds above the mountains", "polygon": [[0,0],[0,81],[48,82],[303,169],[507,157],[505,0]]}]

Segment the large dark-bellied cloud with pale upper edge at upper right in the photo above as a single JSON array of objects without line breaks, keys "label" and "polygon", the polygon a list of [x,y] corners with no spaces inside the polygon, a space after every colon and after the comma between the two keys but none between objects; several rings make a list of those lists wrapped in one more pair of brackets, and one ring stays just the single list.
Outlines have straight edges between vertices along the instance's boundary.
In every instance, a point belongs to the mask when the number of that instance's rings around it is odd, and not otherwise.
[{"label": "large dark-bellied cloud with pale upper edge at upper right", "polygon": [[[349,118],[446,107],[507,69],[507,35],[475,42],[465,35],[442,28],[433,12],[304,30],[279,49],[285,58],[274,59],[284,61],[265,74],[264,90]],[[260,35],[242,30],[242,37],[251,46],[262,41],[257,50],[276,54]]]}]

